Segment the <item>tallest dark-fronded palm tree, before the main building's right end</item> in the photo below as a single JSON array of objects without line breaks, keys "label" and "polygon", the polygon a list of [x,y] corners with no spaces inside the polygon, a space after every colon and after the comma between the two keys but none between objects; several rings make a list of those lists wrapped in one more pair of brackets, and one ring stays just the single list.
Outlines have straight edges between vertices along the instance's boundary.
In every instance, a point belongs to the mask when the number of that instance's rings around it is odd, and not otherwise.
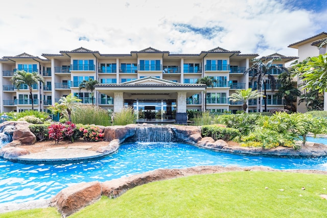
[{"label": "tallest dark-fronded palm tree, before the main building's right end", "polygon": [[262,62],[260,59],[252,59],[252,66],[245,70],[244,75],[253,72],[253,77],[251,81],[256,77],[256,89],[261,91],[262,86],[264,86],[264,100],[265,100],[265,111],[267,111],[267,98],[266,98],[266,75],[268,75],[268,80],[270,80],[271,90],[274,91],[276,88],[276,80],[270,73],[272,69],[285,70],[288,71],[284,66],[273,65],[272,62],[275,60],[281,60],[280,58],[272,58],[267,63]]}]

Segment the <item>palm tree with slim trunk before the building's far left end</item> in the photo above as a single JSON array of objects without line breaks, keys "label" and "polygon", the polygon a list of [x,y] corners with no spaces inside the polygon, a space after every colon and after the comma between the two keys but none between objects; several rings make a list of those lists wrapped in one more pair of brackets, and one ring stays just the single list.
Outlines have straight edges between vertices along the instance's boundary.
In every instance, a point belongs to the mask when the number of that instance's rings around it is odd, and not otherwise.
[{"label": "palm tree with slim trunk before the building's far left end", "polygon": [[30,96],[32,101],[32,110],[34,110],[34,102],[33,102],[33,85],[37,84],[37,82],[41,82],[44,85],[44,79],[41,75],[37,74],[37,72],[26,72],[25,70],[17,70],[14,72],[14,75],[10,79],[16,89],[19,90],[21,84],[26,84],[30,90]]}]

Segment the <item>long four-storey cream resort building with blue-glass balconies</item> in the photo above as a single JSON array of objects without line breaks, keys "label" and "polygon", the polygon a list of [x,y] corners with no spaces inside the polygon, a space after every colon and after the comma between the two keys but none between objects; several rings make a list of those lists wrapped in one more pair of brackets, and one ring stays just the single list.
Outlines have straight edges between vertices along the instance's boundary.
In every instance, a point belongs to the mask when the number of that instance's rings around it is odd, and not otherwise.
[{"label": "long four-storey cream resort building with blue-glass balconies", "polygon": [[[185,120],[188,110],[222,113],[242,110],[242,102],[230,102],[228,96],[236,90],[256,88],[253,72],[244,74],[258,54],[241,54],[221,47],[199,54],[171,54],[148,47],[130,54],[101,54],[80,47],[59,54],[42,54],[42,58],[22,53],[0,59],[0,110],[23,111],[31,109],[28,87],[19,90],[10,81],[16,70],[36,71],[45,84],[33,86],[34,109],[46,111],[62,96],[74,94],[82,104],[101,106],[113,111],[130,106],[139,119]],[[262,57],[263,61],[281,58],[274,64],[297,59],[280,54]],[[281,71],[271,71],[277,76]],[[213,87],[196,84],[202,77],[214,77]],[[79,90],[83,80],[92,78],[96,86],[95,98],[85,89]],[[277,82],[278,83],[278,82]],[[266,83],[267,111],[284,108],[284,100],[278,99],[269,80]],[[206,102],[205,102],[206,101]],[[262,99],[248,102],[248,112],[264,110]]]}]

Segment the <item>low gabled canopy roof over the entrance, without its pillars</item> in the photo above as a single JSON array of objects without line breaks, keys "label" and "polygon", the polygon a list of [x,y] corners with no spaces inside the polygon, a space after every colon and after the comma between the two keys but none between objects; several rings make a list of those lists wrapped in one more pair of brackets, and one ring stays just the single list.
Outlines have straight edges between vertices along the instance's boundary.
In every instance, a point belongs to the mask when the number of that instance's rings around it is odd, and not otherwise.
[{"label": "low gabled canopy roof over the entrance, without its pillars", "polygon": [[112,97],[116,92],[123,92],[124,99],[178,99],[178,92],[185,92],[186,99],[204,91],[206,85],[146,77],[120,84],[97,84],[95,87],[97,91]]}]

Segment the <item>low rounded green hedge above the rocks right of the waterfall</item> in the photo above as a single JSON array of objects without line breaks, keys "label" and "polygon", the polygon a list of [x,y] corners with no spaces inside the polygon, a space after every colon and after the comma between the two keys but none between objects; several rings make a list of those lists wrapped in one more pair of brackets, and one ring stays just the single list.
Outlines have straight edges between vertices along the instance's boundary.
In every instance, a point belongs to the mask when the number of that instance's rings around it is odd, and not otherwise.
[{"label": "low rounded green hedge above the rocks right of the waterfall", "polygon": [[202,126],[202,136],[212,137],[215,140],[222,139],[224,141],[229,141],[237,136],[240,136],[240,131],[228,127],[208,125],[208,126]]}]

